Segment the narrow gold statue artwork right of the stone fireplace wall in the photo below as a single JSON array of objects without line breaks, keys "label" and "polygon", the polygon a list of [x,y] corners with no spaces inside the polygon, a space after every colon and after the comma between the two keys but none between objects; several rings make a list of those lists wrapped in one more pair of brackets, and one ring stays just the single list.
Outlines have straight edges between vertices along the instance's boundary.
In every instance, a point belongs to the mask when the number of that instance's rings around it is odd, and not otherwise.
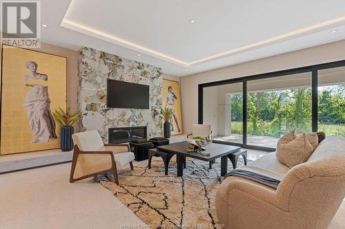
[{"label": "narrow gold statue artwork right of the stone fireplace wall", "polygon": [[163,80],[163,107],[168,107],[173,113],[170,120],[171,135],[182,134],[181,96],[179,82]]}]

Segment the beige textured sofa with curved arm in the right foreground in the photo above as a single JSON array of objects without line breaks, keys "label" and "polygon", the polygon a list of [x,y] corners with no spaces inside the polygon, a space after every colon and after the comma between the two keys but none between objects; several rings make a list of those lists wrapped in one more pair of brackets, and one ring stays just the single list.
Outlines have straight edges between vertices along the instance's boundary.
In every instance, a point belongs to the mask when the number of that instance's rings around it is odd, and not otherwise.
[{"label": "beige textured sofa with curved arm in the right foreground", "polygon": [[345,197],[345,138],[326,138],[308,162],[293,168],[275,153],[242,168],[281,182],[275,190],[239,177],[224,179],[215,207],[225,228],[327,228]]}]

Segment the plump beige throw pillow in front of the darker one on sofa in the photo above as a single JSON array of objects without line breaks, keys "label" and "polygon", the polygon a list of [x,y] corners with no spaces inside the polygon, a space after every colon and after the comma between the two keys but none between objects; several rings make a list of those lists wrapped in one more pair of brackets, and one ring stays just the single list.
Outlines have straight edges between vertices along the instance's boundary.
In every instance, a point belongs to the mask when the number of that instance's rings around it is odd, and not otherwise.
[{"label": "plump beige throw pillow in front of the darker one on sofa", "polygon": [[275,155],[279,162],[292,168],[306,162],[315,150],[317,143],[316,133],[291,131],[279,139]]}]

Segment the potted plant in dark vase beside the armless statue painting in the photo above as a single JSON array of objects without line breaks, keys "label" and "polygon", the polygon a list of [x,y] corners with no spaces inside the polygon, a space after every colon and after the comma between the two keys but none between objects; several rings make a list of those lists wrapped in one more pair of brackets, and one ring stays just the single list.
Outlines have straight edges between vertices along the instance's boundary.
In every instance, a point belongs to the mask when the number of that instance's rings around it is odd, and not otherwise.
[{"label": "potted plant in dark vase beside the armless statue painting", "polygon": [[55,110],[52,113],[54,118],[58,120],[61,124],[61,151],[71,151],[73,149],[73,141],[72,141],[72,134],[73,134],[73,127],[72,125],[81,118],[81,113],[76,112],[73,114],[68,113],[68,111],[63,111],[59,107],[59,110]]}]

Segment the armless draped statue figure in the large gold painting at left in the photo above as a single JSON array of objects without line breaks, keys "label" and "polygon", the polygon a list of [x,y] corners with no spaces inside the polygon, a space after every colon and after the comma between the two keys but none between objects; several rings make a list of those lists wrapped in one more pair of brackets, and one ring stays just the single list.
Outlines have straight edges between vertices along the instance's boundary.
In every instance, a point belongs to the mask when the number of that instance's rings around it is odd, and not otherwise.
[{"label": "armless draped statue figure in the large gold painting at left", "polygon": [[23,77],[23,81],[26,87],[30,87],[30,90],[26,94],[23,105],[34,135],[32,143],[56,140],[55,121],[50,111],[48,86],[43,85],[43,82],[48,80],[48,76],[37,72],[38,65],[34,61],[28,61],[26,67],[30,72]]}]

